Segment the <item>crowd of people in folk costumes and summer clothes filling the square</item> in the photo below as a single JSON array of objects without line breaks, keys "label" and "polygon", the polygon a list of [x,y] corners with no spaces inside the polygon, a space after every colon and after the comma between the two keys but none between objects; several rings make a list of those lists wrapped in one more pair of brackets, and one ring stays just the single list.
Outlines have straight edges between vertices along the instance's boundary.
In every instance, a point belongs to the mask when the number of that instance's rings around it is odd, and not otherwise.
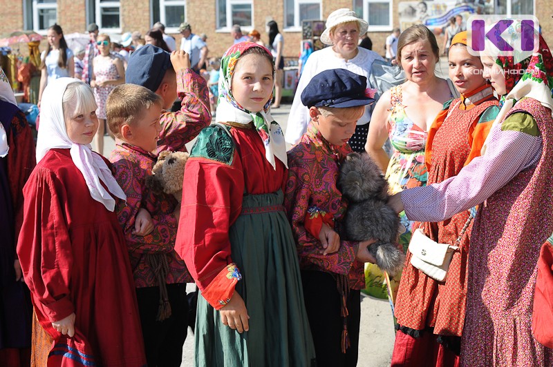
[{"label": "crowd of people in folk costumes and summer clothes filling the square", "polygon": [[[404,228],[392,366],[551,366],[553,336],[536,321],[552,308],[550,48],[536,34],[522,60],[474,56],[456,32],[442,79],[433,32],[394,30],[386,46],[406,79],[377,90],[371,65],[384,60],[358,46],[367,27],[330,13],[286,132],[271,116],[274,22],[270,48],[233,28],[220,62],[189,23],[181,50],[161,25],[126,60],[94,24],[75,55],[53,26],[36,147],[0,72],[0,364],[180,366],[192,311],[195,366],[357,366],[378,239],[344,237],[337,179],[366,152]],[[520,21],[510,27],[516,37]],[[104,124],[109,159],[91,149]],[[167,152],[185,153],[178,197],[149,184]],[[437,278],[420,256],[445,258],[440,244],[451,262]]]}]

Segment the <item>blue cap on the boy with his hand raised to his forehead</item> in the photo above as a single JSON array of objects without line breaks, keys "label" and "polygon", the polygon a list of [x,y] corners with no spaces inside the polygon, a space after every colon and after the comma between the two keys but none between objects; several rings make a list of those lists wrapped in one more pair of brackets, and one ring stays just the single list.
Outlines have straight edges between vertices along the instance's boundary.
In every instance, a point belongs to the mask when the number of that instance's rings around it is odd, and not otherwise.
[{"label": "blue cap on the boy with his hand raised to his forehead", "polygon": [[169,52],[153,45],[142,46],[131,54],[125,82],[156,92],[168,68],[172,68]]}]

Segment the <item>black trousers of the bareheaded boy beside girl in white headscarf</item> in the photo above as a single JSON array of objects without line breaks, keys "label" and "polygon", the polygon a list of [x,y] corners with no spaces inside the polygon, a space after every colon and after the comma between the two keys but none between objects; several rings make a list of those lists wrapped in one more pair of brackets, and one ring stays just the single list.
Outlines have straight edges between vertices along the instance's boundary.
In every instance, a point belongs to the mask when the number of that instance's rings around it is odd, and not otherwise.
[{"label": "black trousers of the bareheaded boy beside girl in white headscarf", "polygon": [[160,288],[136,288],[144,349],[149,367],[171,367],[182,364],[182,346],[188,330],[186,284],[167,284],[171,317],[156,321]]}]

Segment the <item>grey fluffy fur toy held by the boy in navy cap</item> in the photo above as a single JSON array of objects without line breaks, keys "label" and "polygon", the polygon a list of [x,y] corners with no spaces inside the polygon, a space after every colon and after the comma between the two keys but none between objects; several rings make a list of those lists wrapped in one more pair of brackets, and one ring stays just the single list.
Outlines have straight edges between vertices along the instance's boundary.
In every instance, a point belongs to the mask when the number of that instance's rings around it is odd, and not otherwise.
[{"label": "grey fluffy fur toy held by the boy in navy cap", "polygon": [[403,267],[405,255],[395,245],[400,218],[386,204],[388,182],[382,172],[366,153],[351,153],[341,163],[338,188],[349,201],[340,237],[350,241],[376,239],[368,251],[380,269],[395,275]]}]

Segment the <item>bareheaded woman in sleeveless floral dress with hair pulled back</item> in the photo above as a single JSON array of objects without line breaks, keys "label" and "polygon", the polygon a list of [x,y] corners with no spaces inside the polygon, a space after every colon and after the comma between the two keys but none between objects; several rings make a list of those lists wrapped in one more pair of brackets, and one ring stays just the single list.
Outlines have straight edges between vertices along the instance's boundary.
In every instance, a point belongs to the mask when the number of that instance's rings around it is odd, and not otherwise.
[{"label": "bareheaded woman in sleeveless floral dress with hair pulled back", "polygon": [[[440,59],[438,43],[425,26],[413,26],[405,30],[397,44],[397,64],[405,70],[407,81],[384,92],[380,97],[371,125],[365,149],[386,172],[391,193],[404,188],[424,186],[427,182],[427,167],[424,165],[424,146],[427,130],[434,121],[443,103],[451,99],[449,84],[434,75],[435,65]],[[382,146],[390,139],[392,157],[388,157]],[[402,213],[402,225],[406,228],[400,236],[400,244],[406,250],[411,239],[411,223]],[[379,276],[379,270],[368,265],[367,282]],[[391,302],[400,275],[391,279]]]}]

